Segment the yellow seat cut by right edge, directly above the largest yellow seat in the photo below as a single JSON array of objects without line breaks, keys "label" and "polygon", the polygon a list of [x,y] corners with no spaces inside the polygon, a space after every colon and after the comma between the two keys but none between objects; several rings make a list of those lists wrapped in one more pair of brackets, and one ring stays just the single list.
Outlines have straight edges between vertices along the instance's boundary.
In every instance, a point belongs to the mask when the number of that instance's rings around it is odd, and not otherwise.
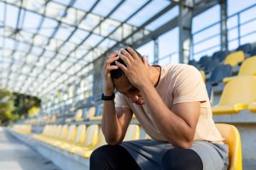
[{"label": "yellow seat cut by right edge, directly above the largest yellow seat", "polygon": [[[238,72],[237,77],[242,76],[256,76],[256,56],[250,57],[246,59],[242,64],[241,68]],[[227,83],[230,82],[230,80],[233,80],[236,77],[226,77],[224,78],[223,82]]]}]

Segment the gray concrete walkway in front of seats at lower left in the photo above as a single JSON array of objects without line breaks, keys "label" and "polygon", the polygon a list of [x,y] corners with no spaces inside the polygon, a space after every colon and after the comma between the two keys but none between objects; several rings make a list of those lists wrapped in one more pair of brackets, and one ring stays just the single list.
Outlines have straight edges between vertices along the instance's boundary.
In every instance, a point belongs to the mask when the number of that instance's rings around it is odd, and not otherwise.
[{"label": "gray concrete walkway in front of seats at lower left", "polygon": [[1,170],[59,170],[51,161],[0,127]]}]

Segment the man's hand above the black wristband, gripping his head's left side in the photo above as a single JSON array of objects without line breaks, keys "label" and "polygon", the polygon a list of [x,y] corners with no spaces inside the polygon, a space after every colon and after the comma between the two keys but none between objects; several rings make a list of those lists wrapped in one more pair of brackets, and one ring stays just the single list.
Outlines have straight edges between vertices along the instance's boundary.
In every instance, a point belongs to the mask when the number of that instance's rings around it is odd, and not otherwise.
[{"label": "man's hand above the black wristband, gripping his head's left side", "polygon": [[114,61],[119,59],[119,56],[117,55],[118,51],[113,52],[113,54],[110,54],[108,58],[105,61],[105,64],[103,66],[103,77],[104,77],[104,94],[105,95],[112,95],[114,86],[113,81],[111,78],[110,71],[117,70],[119,67],[117,65],[110,65]]}]

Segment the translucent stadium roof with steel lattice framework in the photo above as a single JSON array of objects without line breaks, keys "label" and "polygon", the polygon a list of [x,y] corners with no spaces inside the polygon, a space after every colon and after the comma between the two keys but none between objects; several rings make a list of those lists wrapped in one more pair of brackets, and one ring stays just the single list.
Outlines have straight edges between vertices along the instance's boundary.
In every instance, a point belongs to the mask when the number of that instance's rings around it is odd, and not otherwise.
[{"label": "translucent stadium roof with steel lattice framework", "polygon": [[[1,0],[0,88],[44,96],[170,20],[167,0]],[[172,19],[172,18],[171,18]]]}]

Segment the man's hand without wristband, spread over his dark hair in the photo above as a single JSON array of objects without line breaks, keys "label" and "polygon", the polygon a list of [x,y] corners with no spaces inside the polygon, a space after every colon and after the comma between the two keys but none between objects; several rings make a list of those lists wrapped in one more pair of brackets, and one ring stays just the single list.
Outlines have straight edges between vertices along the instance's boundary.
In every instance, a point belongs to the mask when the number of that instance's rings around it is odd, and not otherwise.
[{"label": "man's hand without wristband, spread over his dark hair", "polygon": [[150,73],[149,73],[149,65],[145,56],[143,56],[143,60],[137,55],[137,53],[132,48],[127,48],[129,53],[125,49],[120,49],[118,52],[118,56],[123,59],[125,65],[120,64],[116,61],[116,65],[124,71],[125,76],[128,77],[129,81],[136,88],[141,89],[150,82]]}]

